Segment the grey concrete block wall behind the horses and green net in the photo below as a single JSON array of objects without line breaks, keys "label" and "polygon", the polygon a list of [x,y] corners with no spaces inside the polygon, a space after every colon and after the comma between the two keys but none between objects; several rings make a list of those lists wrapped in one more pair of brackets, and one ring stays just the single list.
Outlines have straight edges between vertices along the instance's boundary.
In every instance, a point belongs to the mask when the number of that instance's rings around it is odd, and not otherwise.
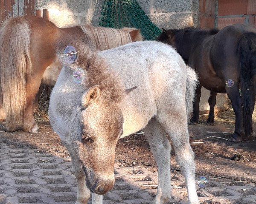
[{"label": "grey concrete block wall behind the horses and green net", "polygon": [[[159,28],[198,26],[199,0],[137,0],[137,2]],[[49,20],[59,27],[79,23],[91,23],[97,26],[102,4],[103,0],[37,0],[36,9],[42,11],[47,8]],[[202,88],[201,111],[209,110],[209,94],[209,91]],[[218,94],[216,108],[226,107],[226,102],[226,94]]]}]

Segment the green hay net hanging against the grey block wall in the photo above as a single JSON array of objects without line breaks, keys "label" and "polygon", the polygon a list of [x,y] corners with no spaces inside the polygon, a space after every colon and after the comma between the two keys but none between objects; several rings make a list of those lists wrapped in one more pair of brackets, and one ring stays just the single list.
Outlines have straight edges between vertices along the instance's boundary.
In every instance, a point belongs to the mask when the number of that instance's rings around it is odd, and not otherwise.
[{"label": "green hay net hanging against the grey block wall", "polygon": [[162,32],[149,20],[136,0],[105,0],[99,26],[109,28],[135,27],[146,40],[155,40]]}]

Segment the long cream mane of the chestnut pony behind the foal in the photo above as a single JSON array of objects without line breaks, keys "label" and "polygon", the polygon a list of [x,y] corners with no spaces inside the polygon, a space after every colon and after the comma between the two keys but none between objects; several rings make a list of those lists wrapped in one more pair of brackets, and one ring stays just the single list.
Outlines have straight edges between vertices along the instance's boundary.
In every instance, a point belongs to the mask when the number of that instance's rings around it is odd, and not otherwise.
[{"label": "long cream mane of the chestnut pony behind the foal", "polygon": [[[104,28],[93,27],[90,25],[80,25],[84,35],[96,44],[96,48],[100,51],[115,48],[132,42],[129,32],[137,30],[136,28]],[[138,34],[134,41],[141,41],[143,37]]]}]

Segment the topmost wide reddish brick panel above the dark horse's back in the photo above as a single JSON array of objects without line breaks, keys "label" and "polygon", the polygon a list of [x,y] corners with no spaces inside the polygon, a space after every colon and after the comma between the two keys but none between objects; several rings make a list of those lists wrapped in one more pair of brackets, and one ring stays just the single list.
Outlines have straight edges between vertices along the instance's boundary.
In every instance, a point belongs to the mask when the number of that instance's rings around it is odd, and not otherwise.
[{"label": "topmost wide reddish brick panel above the dark horse's back", "polygon": [[239,15],[247,13],[247,0],[219,0],[218,15]]}]

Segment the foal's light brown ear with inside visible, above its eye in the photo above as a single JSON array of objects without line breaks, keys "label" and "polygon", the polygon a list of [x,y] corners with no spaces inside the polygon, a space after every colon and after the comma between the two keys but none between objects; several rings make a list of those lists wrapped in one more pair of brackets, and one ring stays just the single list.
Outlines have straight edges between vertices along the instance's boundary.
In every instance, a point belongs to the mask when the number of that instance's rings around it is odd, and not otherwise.
[{"label": "foal's light brown ear with inside visible, above its eye", "polygon": [[99,85],[95,85],[87,90],[87,92],[82,96],[82,106],[86,108],[93,102],[99,101],[99,96],[101,94]]}]

